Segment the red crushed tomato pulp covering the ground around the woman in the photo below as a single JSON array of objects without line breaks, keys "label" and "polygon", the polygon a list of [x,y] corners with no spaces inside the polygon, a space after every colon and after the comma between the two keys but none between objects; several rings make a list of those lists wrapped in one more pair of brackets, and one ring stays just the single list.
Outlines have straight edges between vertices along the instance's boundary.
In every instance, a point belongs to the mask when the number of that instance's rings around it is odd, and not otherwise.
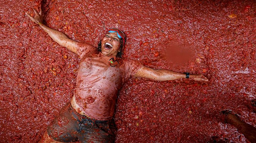
[{"label": "red crushed tomato pulp covering the ground around the woman", "polygon": [[0,140],[37,142],[74,93],[80,59],[25,12],[95,46],[107,28],[127,36],[123,57],[145,66],[200,73],[157,82],[131,78],[119,91],[116,142],[248,142],[224,122],[230,109],[255,127],[255,0],[0,1]]}]

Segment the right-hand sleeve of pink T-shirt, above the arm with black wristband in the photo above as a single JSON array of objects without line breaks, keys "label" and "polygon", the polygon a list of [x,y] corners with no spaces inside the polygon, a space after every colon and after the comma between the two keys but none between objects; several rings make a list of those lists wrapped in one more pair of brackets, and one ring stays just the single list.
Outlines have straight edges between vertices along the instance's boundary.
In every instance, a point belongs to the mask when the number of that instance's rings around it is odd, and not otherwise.
[{"label": "right-hand sleeve of pink T-shirt, above the arm with black wristband", "polygon": [[125,62],[126,78],[133,77],[143,66],[138,60],[127,59]]}]

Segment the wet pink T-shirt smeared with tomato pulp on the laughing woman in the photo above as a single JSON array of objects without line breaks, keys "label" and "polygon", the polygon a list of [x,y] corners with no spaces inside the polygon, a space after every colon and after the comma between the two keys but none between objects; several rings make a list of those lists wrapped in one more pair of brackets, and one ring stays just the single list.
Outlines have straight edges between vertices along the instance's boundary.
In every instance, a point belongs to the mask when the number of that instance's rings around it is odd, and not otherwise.
[{"label": "wet pink T-shirt smeared with tomato pulp on the laughing woman", "polygon": [[96,47],[82,42],[77,54],[81,60],[74,91],[76,103],[88,117],[110,120],[118,90],[143,65],[137,60],[104,56]]}]

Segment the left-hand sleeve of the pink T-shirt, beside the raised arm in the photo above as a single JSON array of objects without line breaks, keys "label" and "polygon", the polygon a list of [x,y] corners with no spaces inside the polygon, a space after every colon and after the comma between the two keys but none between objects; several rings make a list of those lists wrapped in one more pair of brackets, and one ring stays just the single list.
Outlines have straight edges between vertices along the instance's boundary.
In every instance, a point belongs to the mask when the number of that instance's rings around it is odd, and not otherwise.
[{"label": "left-hand sleeve of the pink T-shirt, beside the raised arm", "polygon": [[80,56],[80,59],[82,59],[84,55],[89,54],[93,50],[97,50],[97,48],[86,42],[79,42],[76,52]]}]

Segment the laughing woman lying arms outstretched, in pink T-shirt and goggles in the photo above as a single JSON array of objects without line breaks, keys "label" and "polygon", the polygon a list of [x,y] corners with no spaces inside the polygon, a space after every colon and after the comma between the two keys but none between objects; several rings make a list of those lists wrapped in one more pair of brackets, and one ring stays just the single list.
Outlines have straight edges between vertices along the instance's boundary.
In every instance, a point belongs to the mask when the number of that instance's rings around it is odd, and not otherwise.
[{"label": "laughing woman lying arms outstretched, in pink T-shirt and goggles", "polygon": [[143,66],[138,60],[122,58],[125,34],[110,28],[98,47],[69,39],[64,33],[42,23],[42,9],[26,15],[58,44],[80,56],[74,96],[64,106],[40,142],[114,142],[113,122],[118,90],[130,77],[168,81],[193,78],[206,82],[201,74],[177,73]]}]

